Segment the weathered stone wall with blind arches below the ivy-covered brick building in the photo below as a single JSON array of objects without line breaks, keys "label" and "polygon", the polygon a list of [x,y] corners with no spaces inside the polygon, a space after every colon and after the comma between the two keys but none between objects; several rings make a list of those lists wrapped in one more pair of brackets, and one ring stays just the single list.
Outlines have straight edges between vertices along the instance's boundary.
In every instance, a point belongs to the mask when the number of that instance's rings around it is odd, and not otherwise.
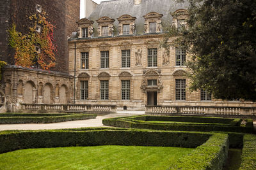
[{"label": "weathered stone wall with blind arches below the ivy-covered brick building", "polygon": [[73,78],[67,73],[7,66],[1,88],[7,111],[13,112],[21,109],[20,103],[71,103],[72,84]]}]

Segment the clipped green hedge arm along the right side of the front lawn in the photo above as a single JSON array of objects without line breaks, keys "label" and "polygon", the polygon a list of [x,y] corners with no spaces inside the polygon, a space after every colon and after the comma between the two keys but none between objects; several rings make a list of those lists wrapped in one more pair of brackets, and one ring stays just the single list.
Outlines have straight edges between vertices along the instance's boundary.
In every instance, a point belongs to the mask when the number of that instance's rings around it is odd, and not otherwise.
[{"label": "clipped green hedge arm along the right side of the front lawn", "polygon": [[213,134],[203,145],[179,159],[170,169],[222,169],[228,156],[228,135]]}]

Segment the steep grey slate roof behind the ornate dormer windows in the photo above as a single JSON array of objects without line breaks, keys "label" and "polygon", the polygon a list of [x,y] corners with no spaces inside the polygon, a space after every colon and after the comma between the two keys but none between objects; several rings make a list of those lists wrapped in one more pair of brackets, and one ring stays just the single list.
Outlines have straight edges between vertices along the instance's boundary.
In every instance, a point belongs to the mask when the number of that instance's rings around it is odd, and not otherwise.
[{"label": "steep grey slate roof behind the ornate dormer windows", "polygon": [[[115,19],[114,35],[117,35],[118,20],[116,18],[128,14],[136,17],[136,34],[143,34],[145,22],[143,15],[152,11],[163,14],[163,26],[171,24],[172,15],[176,10],[188,8],[188,2],[176,3],[175,0],[141,0],[141,4],[134,5],[134,0],[113,0],[103,1],[97,6],[88,19],[96,21],[100,17],[109,17]],[[97,34],[97,22],[94,22],[94,34]]]}]

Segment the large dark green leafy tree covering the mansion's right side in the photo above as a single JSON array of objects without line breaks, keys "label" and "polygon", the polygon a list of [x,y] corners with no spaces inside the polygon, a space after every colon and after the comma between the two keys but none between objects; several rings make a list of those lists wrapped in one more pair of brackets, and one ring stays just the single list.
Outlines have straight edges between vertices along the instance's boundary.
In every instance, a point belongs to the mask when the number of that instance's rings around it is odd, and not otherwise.
[{"label": "large dark green leafy tree covering the mansion's right side", "polygon": [[256,1],[189,0],[186,29],[175,31],[175,45],[191,60],[192,90],[217,99],[256,101]]}]

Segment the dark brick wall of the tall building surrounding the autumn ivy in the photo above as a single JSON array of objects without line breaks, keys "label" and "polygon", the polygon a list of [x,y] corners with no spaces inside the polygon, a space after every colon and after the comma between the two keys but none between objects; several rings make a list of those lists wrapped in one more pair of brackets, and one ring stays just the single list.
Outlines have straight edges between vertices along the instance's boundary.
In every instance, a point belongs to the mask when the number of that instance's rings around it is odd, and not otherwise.
[{"label": "dark brick wall of the tall building surrounding the autumn ivy", "polygon": [[42,10],[48,14],[49,22],[56,26],[54,29],[54,42],[57,45],[56,67],[52,70],[68,71],[68,43],[67,36],[76,31],[76,21],[79,20],[79,0],[5,0],[0,6],[0,60],[14,64],[14,50],[8,46],[6,30],[13,23],[17,25],[17,31],[25,34],[29,31],[31,22],[29,16],[36,13],[36,4],[42,6]]}]

